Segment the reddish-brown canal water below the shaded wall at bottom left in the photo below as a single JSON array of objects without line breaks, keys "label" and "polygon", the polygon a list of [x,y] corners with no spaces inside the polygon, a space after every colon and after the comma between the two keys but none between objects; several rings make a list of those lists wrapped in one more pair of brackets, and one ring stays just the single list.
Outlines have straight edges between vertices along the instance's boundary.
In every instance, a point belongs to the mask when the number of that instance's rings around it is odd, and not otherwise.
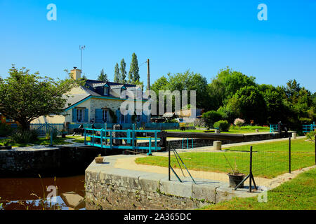
[{"label": "reddish-brown canal water below the shaded wall at bottom left", "polygon": [[[52,209],[69,209],[62,201],[62,193],[74,192],[84,197],[84,175],[47,178],[0,178],[0,204],[3,203],[2,209],[42,209],[43,201],[39,200],[44,197],[44,190],[47,186],[57,186],[57,203],[50,204]],[[45,195],[51,191],[45,191]],[[31,195],[32,194],[32,195]],[[38,197],[37,197],[37,196]],[[0,207],[1,209],[1,207]]]}]

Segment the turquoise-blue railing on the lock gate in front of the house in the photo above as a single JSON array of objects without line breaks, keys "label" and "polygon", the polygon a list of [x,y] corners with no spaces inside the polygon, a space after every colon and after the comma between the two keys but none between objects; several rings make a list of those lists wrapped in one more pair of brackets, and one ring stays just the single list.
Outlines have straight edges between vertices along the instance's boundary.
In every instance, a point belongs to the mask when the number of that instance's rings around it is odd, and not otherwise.
[{"label": "turquoise-blue railing on the lock gate in front of the house", "polygon": [[[92,131],[92,133],[87,133],[87,131]],[[97,133],[100,135],[96,135]],[[113,132],[126,132],[126,137],[113,137]],[[154,137],[136,137],[137,132],[154,132]],[[99,148],[105,148],[105,149],[131,149],[131,150],[147,150],[147,155],[152,155],[152,151],[159,151],[161,150],[161,147],[157,146],[157,141],[160,140],[160,138],[157,138],[157,132],[161,132],[160,130],[107,130],[107,129],[92,129],[92,128],[85,128],[84,129],[84,144],[88,146],[96,146]],[[87,137],[90,137],[91,140],[87,141]],[[96,143],[96,139],[100,139],[100,143]],[[126,144],[129,145],[121,145],[121,146],[115,146],[113,145],[113,140],[124,140],[126,141]],[[149,140],[148,146],[136,146],[136,141],[138,139],[141,140]],[[152,139],[154,140],[154,146],[152,146]],[[110,141],[110,144],[108,143]]]}]

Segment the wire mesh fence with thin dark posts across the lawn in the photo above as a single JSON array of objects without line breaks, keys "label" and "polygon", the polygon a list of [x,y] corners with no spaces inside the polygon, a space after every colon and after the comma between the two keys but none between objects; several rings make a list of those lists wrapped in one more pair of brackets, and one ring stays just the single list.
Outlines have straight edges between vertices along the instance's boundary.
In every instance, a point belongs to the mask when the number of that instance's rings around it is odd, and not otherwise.
[{"label": "wire mesh fence with thin dark posts across the lawn", "polygon": [[[228,174],[247,176],[250,173],[251,146],[252,174],[257,186],[272,188],[282,181],[282,175],[315,165],[315,141],[302,138],[229,144],[223,145],[221,150],[198,143],[192,147],[190,140],[185,141],[184,146],[169,143],[170,166],[180,179],[187,179],[186,168],[193,179],[202,182],[229,182]],[[171,175],[175,174],[171,172]],[[249,186],[249,181],[244,186]]]}]

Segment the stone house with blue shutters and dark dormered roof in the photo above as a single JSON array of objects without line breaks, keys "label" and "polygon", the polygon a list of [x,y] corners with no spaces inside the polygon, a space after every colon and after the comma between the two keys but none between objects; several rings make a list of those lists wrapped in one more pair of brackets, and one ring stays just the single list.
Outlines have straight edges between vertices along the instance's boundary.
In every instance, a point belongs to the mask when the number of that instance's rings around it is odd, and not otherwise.
[{"label": "stone house with blue shutters and dark dormered roof", "polygon": [[[81,70],[71,71],[74,79],[81,78]],[[129,94],[126,94],[126,91]],[[131,95],[132,93],[132,95]],[[84,86],[74,87],[67,98],[65,111],[60,115],[42,116],[32,123],[149,123],[150,116],[143,110],[123,115],[121,104],[126,101],[147,102],[140,87],[132,84],[86,80]],[[115,122],[116,121],[116,122]]]}]

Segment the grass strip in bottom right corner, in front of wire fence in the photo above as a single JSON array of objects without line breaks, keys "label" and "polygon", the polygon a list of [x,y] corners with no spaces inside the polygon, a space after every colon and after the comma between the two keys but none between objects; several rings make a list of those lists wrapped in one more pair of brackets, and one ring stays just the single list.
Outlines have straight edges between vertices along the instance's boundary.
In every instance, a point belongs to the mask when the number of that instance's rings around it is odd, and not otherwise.
[{"label": "grass strip in bottom right corner, in front of wire fence", "polygon": [[311,169],[268,191],[267,202],[258,202],[257,197],[235,197],[202,208],[203,210],[315,210],[316,169]]}]

